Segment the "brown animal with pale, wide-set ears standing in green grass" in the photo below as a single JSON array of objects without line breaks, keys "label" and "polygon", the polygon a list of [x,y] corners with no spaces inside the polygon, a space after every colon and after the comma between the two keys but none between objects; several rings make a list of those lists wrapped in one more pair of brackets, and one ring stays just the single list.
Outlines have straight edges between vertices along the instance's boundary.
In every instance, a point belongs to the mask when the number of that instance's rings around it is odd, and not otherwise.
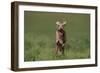
[{"label": "brown animal with pale, wide-set ears standing in green grass", "polygon": [[56,54],[64,54],[64,47],[66,42],[66,32],[64,30],[65,21],[57,21],[57,30],[56,30]]}]

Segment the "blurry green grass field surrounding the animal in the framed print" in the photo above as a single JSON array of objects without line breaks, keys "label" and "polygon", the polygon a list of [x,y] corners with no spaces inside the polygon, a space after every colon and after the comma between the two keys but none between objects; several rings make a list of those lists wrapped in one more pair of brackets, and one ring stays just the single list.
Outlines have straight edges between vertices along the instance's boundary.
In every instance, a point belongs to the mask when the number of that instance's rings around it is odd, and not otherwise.
[{"label": "blurry green grass field surrounding the animal in the framed print", "polygon": [[[55,55],[56,21],[66,18],[64,55]],[[24,61],[90,58],[90,15],[24,12]]]}]

